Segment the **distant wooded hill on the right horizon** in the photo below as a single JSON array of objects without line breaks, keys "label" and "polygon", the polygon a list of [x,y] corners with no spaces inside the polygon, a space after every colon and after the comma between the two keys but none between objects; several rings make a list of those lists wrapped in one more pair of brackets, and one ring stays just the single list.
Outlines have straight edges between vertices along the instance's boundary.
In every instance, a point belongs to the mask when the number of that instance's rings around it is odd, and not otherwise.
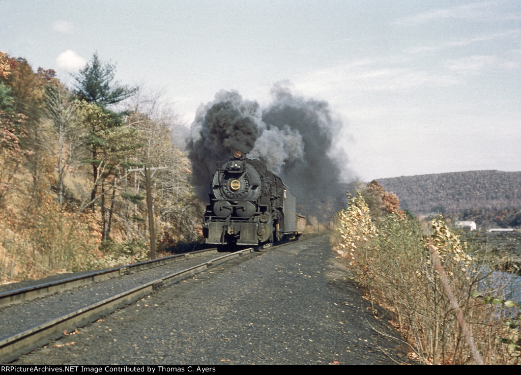
[{"label": "distant wooded hill on the right horizon", "polygon": [[[521,225],[521,172],[484,170],[377,181],[386,191],[398,195],[402,209],[410,209],[415,214],[460,214],[461,219],[468,220],[481,216],[499,226]],[[494,220],[498,215],[500,221],[513,216],[514,222],[507,220],[509,225]]]}]

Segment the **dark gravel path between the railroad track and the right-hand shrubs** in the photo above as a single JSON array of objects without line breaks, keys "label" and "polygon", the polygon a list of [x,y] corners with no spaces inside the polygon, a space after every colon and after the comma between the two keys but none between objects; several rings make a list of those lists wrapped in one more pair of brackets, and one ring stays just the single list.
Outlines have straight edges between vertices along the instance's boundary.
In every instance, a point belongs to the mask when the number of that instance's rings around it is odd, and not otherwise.
[{"label": "dark gravel path between the railroad track and the right-hand shrubs", "polygon": [[[218,265],[15,364],[393,364],[327,236]],[[392,359],[391,359],[392,358]]]}]

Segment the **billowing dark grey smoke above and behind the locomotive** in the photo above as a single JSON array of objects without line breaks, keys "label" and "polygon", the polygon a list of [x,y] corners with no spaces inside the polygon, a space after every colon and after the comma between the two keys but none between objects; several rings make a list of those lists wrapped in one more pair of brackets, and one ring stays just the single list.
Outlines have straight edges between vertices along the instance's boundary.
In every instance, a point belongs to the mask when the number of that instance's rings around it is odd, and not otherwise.
[{"label": "billowing dark grey smoke above and behind the locomotive", "polygon": [[299,212],[326,218],[341,208],[347,158],[334,140],[342,129],[328,103],[276,85],[264,110],[237,92],[221,91],[197,110],[188,140],[199,195],[207,201],[218,161],[234,149],[262,160],[290,187]]}]

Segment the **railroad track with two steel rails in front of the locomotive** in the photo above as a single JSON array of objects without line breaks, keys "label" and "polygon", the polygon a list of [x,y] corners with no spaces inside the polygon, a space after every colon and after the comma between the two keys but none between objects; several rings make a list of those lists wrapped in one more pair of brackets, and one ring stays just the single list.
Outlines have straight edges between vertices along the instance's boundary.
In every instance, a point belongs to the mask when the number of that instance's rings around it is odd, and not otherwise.
[{"label": "railroad track with two steel rails in front of the locomotive", "polygon": [[[247,248],[215,257],[217,249],[207,249],[4,292],[0,294],[0,363],[13,361],[162,286],[254,251]],[[145,269],[149,271],[137,272]]]}]

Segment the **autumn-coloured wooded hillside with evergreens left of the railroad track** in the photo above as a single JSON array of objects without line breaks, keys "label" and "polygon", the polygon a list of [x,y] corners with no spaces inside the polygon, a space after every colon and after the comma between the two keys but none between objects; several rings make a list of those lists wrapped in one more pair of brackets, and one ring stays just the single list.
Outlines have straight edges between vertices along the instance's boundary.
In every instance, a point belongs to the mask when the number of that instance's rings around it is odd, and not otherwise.
[{"label": "autumn-coloured wooded hillside with evergreens left of the railroad track", "polygon": [[135,93],[96,54],[67,89],[0,53],[0,283],[145,259],[145,183],[129,171],[144,164],[165,168],[152,177],[159,249],[199,239],[179,119],[157,97],[118,106]]}]

